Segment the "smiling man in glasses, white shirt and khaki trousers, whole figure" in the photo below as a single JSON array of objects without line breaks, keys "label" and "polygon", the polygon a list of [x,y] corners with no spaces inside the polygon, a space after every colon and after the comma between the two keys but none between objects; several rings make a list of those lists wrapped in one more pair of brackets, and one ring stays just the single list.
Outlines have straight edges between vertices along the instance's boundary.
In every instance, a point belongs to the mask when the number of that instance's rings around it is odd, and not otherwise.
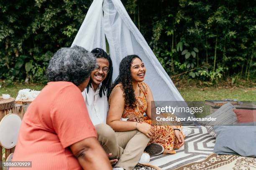
[{"label": "smiling man in glasses, white shirt and khaki trousers, whole figure", "polygon": [[[90,74],[90,82],[82,92],[92,124],[97,131],[97,139],[106,153],[111,153],[115,167],[132,170],[140,163],[148,163],[149,155],[143,153],[149,138],[138,130],[115,132],[106,124],[108,113],[108,97],[112,81],[113,66],[110,56],[102,49],[91,51],[97,60],[97,67]],[[123,121],[137,121],[123,119]],[[118,162],[117,162],[118,161]],[[115,168],[114,168],[115,169]],[[118,169],[119,170],[119,169]]]}]

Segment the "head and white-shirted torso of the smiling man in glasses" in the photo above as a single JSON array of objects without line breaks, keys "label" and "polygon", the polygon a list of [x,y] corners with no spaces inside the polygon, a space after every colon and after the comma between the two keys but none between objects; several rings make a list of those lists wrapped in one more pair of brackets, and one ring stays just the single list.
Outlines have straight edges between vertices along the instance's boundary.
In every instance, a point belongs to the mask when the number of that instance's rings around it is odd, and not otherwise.
[{"label": "head and white-shirted torso of the smiling man in glasses", "polygon": [[107,92],[110,91],[113,66],[109,55],[101,48],[91,51],[97,60],[97,67],[90,74],[90,81],[82,92],[93,125],[105,123],[108,113]]}]

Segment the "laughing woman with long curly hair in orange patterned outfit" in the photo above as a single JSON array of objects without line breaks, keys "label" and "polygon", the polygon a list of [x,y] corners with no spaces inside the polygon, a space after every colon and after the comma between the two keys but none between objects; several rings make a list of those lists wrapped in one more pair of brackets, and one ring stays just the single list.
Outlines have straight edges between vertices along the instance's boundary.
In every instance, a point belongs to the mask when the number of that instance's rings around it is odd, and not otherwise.
[{"label": "laughing woman with long curly hair in orange patterned outfit", "polygon": [[[115,131],[138,130],[151,138],[146,152],[150,155],[175,153],[174,149],[184,144],[181,126],[151,125],[151,101],[154,101],[148,85],[143,82],[146,67],[138,55],[128,55],[120,62],[119,75],[112,86],[109,96],[107,124]],[[146,113],[146,117],[143,114]],[[124,122],[120,118],[142,121]],[[160,146],[159,150],[152,149]]]}]

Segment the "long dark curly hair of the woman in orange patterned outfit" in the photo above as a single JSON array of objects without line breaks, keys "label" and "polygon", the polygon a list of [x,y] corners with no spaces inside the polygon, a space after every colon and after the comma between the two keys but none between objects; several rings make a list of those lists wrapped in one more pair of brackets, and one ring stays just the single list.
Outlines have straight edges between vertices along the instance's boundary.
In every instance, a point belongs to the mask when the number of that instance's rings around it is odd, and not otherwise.
[{"label": "long dark curly hair of the woman in orange patterned outfit", "polygon": [[133,82],[131,77],[131,64],[135,58],[138,58],[141,60],[141,58],[138,55],[128,55],[123,58],[119,66],[119,75],[115,79],[115,82],[111,87],[111,91],[112,91],[116,85],[121,83],[122,85],[121,88],[124,92],[123,96],[125,97],[125,105],[132,108],[136,107],[136,99],[135,99]]}]

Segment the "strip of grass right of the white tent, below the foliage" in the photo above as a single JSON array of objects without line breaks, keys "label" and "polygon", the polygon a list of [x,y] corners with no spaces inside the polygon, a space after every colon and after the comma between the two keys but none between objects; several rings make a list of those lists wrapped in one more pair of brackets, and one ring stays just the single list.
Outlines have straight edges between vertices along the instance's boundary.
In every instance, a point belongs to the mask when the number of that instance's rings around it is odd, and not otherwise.
[{"label": "strip of grass right of the white tent, below the foliage", "polygon": [[221,79],[217,84],[211,82],[181,77],[173,79],[173,82],[184,100],[224,100],[237,99],[240,101],[256,101],[255,80],[236,79],[230,77]]}]

